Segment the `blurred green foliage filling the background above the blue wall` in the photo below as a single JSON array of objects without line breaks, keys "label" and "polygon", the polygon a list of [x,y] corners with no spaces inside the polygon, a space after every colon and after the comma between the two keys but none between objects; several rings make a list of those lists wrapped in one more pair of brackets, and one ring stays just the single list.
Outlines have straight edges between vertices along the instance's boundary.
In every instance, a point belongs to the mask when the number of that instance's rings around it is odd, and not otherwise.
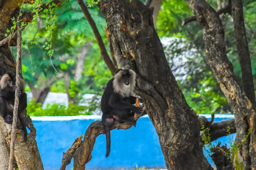
[{"label": "blurred green foliage filling the background above the blue wall", "polygon": [[[144,0],[145,1],[145,0]],[[143,1],[143,2],[144,2]],[[35,0],[38,4],[39,0]],[[47,0],[44,0],[47,2]],[[215,0],[207,1],[217,9]],[[97,3],[97,2],[96,2]],[[105,35],[106,23],[102,13],[94,1],[88,1],[89,12],[99,29],[105,46],[109,52],[108,40]],[[247,40],[250,48],[253,77],[256,78],[256,0],[244,0],[244,19],[247,31]],[[225,4],[223,4],[225,5]],[[31,5],[23,7],[24,11],[35,8]],[[54,8],[54,10],[53,10]],[[105,62],[101,58],[99,46],[95,40],[92,29],[84,17],[76,0],[64,1],[60,8],[52,7],[52,13],[45,11],[38,15],[34,24],[23,30],[23,77],[27,84],[39,88],[60,74],[70,76],[70,87],[65,88],[64,77],[51,85],[51,92],[69,93],[81,101],[83,94],[102,95],[102,87],[112,78]],[[202,28],[197,22],[186,26],[181,23],[192,12],[183,0],[163,0],[161,10],[157,17],[156,30],[160,38],[172,37],[169,44],[164,47],[166,58],[177,78],[180,88],[189,104],[196,113],[232,113],[227,100],[222,94],[218,83],[212,77],[207,57],[204,53]],[[233,19],[227,14],[221,15],[224,23],[227,55],[232,61],[234,71],[241,81],[241,69],[235,44]],[[54,24],[52,22],[54,21]],[[49,45],[49,30],[52,31],[52,56],[45,46]],[[47,42],[47,43],[46,43]],[[83,76],[75,82],[74,69],[83,45],[92,42],[84,62]],[[44,46],[44,48],[43,48]],[[13,54],[16,49],[12,48]],[[183,71],[179,71],[182,68]],[[30,91],[29,86],[26,91]],[[94,101],[94,102],[93,102]],[[99,107],[96,100],[90,103],[94,108]],[[84,111],[86,110],[86,111]],[[89,109],[90,110],[90,109]],[[63,105],[48,105],[42,109],[35,101],[28,105],[31,116],[66,116],[90,114],[88,108],[70,104],[68,108]]]}]

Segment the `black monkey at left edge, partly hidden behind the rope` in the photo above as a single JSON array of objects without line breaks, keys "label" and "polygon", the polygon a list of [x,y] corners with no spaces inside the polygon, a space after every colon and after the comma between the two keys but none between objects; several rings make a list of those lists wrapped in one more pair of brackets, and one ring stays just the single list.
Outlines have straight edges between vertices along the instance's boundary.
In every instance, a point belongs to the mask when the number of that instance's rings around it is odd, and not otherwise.
[{"label": "black monkey at left edge, partly hidden behind the rope", "polygon": [[[13,120],[13,109],[15,102],[15,88],[16,88],[16,72],[8,71],[0,77],[0,115],[3,117],[4,121],[8,124],[12,124]],[[19,97],[18,106],[18,117],[22,123],[24,130],[24,141],[27,139],[27,130],[23,119],[20,117],[21,111],[27,107],[27,96],[23,91],[25,86],[25,81],[20,77],[20,91],[17,93]]]}]

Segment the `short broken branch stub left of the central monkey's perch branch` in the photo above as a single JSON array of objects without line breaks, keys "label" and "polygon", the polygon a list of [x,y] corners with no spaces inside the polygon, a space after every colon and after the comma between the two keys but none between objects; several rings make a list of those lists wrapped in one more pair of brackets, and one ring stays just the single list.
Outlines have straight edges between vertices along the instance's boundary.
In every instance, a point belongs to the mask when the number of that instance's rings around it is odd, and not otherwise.
[{"label": "short broken branch stub left of the central monkey's perch branch", "polygon": [[61,167],[59,170],[66,170],[66,167],[68,164],[70,164],[74,153],[79,147],[81,147],[83,142],[82,138],[83,136],[79,136],[78,138],[76,138],[75,142],[71,145],[71,147],[67,150],[67,152],[63,153],[63,158],[61,160]]}]

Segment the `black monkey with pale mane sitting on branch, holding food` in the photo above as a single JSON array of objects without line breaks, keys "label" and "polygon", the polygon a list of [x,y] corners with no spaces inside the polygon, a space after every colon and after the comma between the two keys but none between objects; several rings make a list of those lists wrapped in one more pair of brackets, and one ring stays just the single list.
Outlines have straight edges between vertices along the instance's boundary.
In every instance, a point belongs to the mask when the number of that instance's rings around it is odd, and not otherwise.
[{"label": "black monkey with pale mane sitting on branch, holding food", "polygon": [[[102,124],[106,133],[107,153],[110,153],[110,127],[114,120],[131,123],[136,126],[134,113],[142,113],[143,108],[136,107],[136,97],[131,96],[135,88],[136,73],[132,70],[118,69],[113,79],[109,80],[101,99]],[[143,102],[143,99],[140,99]]]}]

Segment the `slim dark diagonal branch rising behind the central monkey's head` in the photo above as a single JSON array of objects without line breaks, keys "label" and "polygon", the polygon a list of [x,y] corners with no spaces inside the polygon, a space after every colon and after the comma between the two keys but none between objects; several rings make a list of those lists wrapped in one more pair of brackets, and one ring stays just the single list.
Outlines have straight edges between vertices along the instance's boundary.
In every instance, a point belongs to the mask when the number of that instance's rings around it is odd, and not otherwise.
[{"label": "slim dark diagonal branch rising behind the central monkey's head", "polygon": [[108,52],[105,48],[102,37],[99,34],[99,30],[98,30],[93,18],[91,17],[87,7],[85,6],[83,0],[77,0],[77,2],[79,3],[82,11],[84,12],[84,16],[86,17],[88,23],[90,24],[91,28],[93,29],[93,33],[94,33],[95,38],[98,42],[98,45],[99,45],[99,48],[100,48],[100,53],[102,54],[102,58],[104,59],[106,65],[108,66],[109,70],[111,71],[111,73],[113,75],[116,71],[116,67],[115,67],[115,65],[113,64],[112,60],[110,59],[110,57],[108,55]]}]

